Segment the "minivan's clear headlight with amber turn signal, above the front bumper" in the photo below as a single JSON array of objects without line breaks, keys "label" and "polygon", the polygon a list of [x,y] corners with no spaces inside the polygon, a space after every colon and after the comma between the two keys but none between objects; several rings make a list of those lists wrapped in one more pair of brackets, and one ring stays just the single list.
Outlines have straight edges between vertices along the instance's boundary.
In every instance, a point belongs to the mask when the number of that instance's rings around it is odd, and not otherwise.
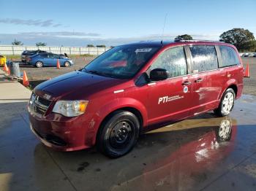
[{"label": "minivan's clear headlight with amber turn signal, above the front bumper", "polygon": [[66,117],[75,117],[86,112],[88,101],[57,101],[53,112],[63,114]]}]

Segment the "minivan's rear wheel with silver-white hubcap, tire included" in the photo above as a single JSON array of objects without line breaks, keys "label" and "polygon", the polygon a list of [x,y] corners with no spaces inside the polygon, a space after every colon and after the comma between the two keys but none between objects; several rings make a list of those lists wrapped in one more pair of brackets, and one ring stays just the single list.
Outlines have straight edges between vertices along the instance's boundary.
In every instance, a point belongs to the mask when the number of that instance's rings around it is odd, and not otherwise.
[{"label": "minivan's rear wheel with silver-white hubcap, tire included", "polygon": [[219,107],[214,109],[214,113],[219,117],[224,117],[230,114],[233,109],[236,93],[232,88],[228,88],[222,95],[222,99],[219,103]]}]

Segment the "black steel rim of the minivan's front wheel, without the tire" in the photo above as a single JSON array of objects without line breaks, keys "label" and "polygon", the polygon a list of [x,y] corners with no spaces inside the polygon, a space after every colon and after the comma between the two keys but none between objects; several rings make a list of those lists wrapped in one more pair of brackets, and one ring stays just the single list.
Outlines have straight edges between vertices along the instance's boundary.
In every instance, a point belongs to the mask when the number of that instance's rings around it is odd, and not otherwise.
[{"label": "black steel rim of the minivan's front wheel, without the tire", "polygon": [[133,124],[127,120],[117,122],[110,131],[110,145],[115,149],[124,149],[130,143],[134,133]]}]

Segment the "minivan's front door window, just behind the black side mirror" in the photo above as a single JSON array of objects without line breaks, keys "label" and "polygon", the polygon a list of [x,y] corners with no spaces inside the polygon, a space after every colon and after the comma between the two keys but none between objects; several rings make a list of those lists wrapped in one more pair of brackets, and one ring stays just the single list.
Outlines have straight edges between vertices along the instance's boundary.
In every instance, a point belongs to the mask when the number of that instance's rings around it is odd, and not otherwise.
[{"label": "minivan's front door window, just behind the black side mirror", "polygon": [[184,47],[173,47],[159,55],[150,69],[166,69],[170,77],[179,77],[187,74],[187,62]]}]

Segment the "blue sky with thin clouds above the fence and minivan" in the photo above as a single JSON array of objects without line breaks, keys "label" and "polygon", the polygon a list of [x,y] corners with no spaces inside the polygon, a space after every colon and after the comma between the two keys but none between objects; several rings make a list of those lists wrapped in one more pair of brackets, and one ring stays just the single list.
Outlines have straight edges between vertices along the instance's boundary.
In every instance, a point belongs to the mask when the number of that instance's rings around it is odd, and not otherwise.
[{"label": "blue sky with thin clouds above the fence and minivan", "polygon": [[181,34],[218,40],[232,28],[256,36],[255,0],[0,0],[0,7],[0,45],[17,39],[24,45],[115,46],[162,34],[164,40]]}]

